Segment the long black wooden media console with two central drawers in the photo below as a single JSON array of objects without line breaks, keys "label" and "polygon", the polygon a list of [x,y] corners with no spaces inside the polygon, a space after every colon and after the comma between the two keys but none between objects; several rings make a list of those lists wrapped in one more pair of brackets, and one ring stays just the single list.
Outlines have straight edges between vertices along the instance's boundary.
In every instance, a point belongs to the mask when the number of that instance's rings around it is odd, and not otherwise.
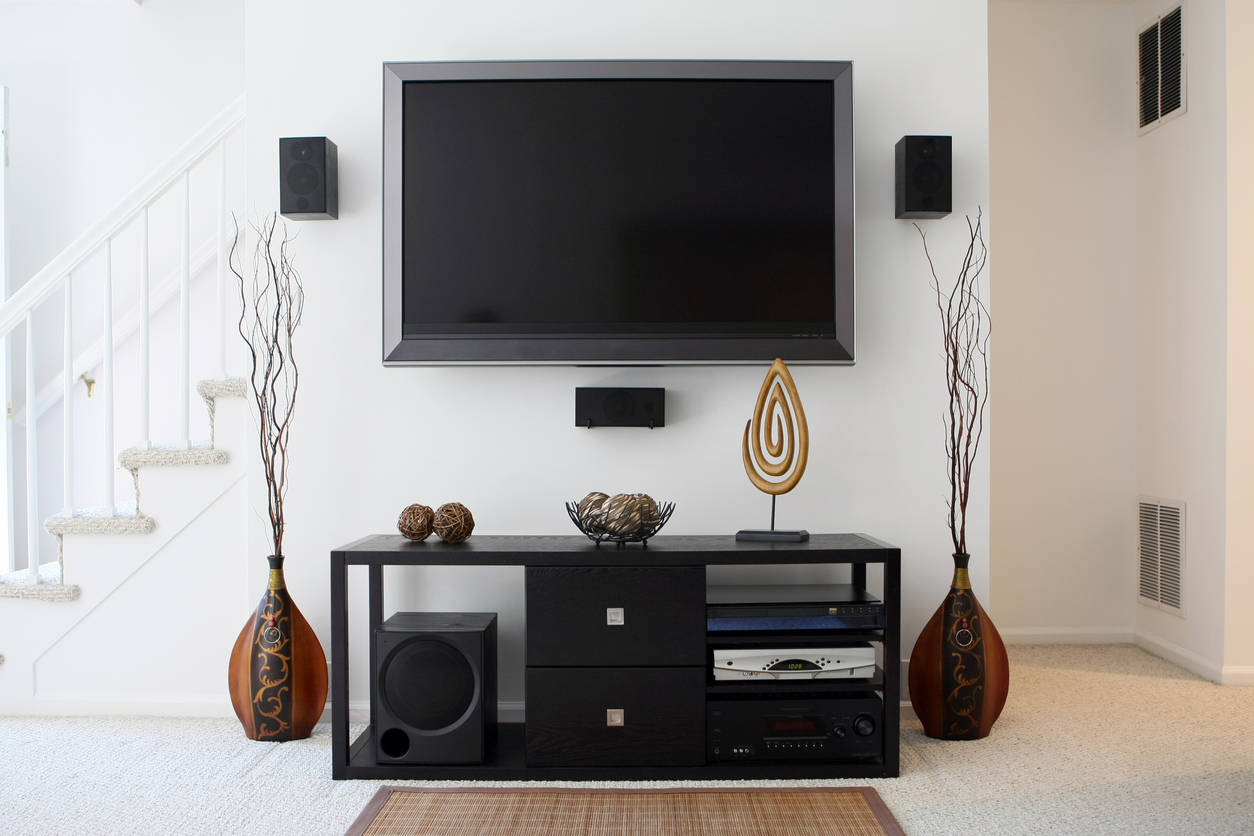
[{"label": "long black wooden media console with two central drawers", "polygon": [[[731,536],[657,536],[647,548],[597,546],[582,536],[474,536],[449,545],[369,536],[331,551],[332,777],[416,781],[735,781],[895,777],[900,729],[900,549],[864,534],[806,543]],[[813,633],[706,632],[706,567],[867,564],[884,568],[882,629],[829,643],[872,642],[870,679],[715,682],[711,648],[814,644]],[[377,763],[374,726],[349,739],[349,567],[369,567],[370,632],[384,620],[385,565],[522,565],[527,578],[527,723],[500,723],[477,765]],[[611,614],[609,609],[621,610]],[[824,637],[825,639],[826,637]],[[375,642],[370,642],[374,657]],[[371,658],[371,671],[375,669]],[[714,760],[707,722],[746,698],[878,706],[874,757]],[[374,701],[374,694],[371,696]],[[868,708],[874,713],[873,709]],[[619,712],[611,717],[611,712]],[[735,712],[731,712],[735,713]],[[377,717],[371,704],[371,718]],[[613,723],[621,722],[619,727]],[[861,722],[861,721],[859,721]],[[878,747],[883,734],[883,748]],[[714,738],[711,738],[712,741]],[[709,746],[714,746],[710,742]]]}]

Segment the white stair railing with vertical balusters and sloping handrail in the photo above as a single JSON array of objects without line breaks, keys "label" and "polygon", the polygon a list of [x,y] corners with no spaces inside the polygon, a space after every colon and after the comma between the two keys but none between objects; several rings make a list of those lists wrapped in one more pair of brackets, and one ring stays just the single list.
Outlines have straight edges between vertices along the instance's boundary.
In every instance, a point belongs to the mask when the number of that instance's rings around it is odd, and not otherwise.
[{"label": "white stair railing with vertical balusters and sloping handrail", "polygon": [[[102,513],[110,516],[115,513],[114,503],[114,368],[113,348],[114,341],[119,337],[113,318],[113,241],[132,223],[139,222],[139,303],[137,306],[138,323],[130,322],[129,327],[122,328],[120,337],[125,337],[138,325],[139,331],[139,439],[137,446],[150,447],[149,437],[149,401],[150,384],[148,374],[149,363],[149,317],[152,313],[149,302],[149,242],[148,242],[148,209],[161,199],[176,184],[182,184],[182,218],[181,218],[181,246],[179,246],[179,348],[178,348],[178,444],[179,449],[189,446],[189,416],[188,402],[191,395],[191,277],[192,277],[192,251],[189,237],[191,217],[191,170],[209,154],[218,153],[218,183],[217,183],[217,241],[214,242],[217,269],[217,312],[214,318],[216,347],[217,347],[217,375],[226,377],[226,277],[227,277],[227,204],[226,204],[226,140],[233,134],[245,120],[245,97],[232,102],[222,113],[214,117],[204,128],[183,144],[174,154],[157,168],[148,178],[133,189],[125,198],[118,202],[109,212],[94,223],[87,232],[79,236],[60,254],[53,258],[29,282],[23,285],[3,306],[0,306],[0,338],[8,337],[19,325],[25,323],[26,337],[26,402],[25,402],[25,430],[26,430],[26,553],[28,573],[26,582],[38,584],[39,577],[39,460],[38,445],[35,444],[35,430],[40,409],[40,392],[35,381],[35,338],[34,338],[34,311],[44,301],[51,298],[58,291],[64,296],[64,322],[65,340],[63,350],[61,392],[63,401],[63,506],[61,516],[74,516],[74,434],[73,434],[73,387],[76,380],[74,371],[78,363],[83,363],[87,357],[80,356],[78,361],[74,356],[74,318],[73,318],[73,273],[97,254],[104,256],[104,297],[102,303],[102,336],[100,350],[100,396],[103,407],[102,420],[102,455],[104,464],[104,506]],[[203,266],[203,263],[201,264]],[[129,316],[127,317],[129,318]],[[85,352],[92,355],[93,352]],[[55,387],[55,382],[50,385]],[[48,392],[46,401],[55,400],[55,389]],[[16,416],[15,416],[16,417]],[[13,462],[9,462],[10,469]],[[10,556],[11,560],[11,556]],[[11,564],[10,564],[11,565]]]}]

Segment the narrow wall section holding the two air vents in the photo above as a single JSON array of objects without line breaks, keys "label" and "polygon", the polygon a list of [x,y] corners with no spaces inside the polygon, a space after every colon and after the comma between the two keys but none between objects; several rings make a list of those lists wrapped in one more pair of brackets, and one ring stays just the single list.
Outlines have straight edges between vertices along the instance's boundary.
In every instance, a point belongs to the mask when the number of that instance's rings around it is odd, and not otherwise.
[{"label": "narrow wall section holding the two air vents", "polygon": [[[1170,4],[1167,4],[1170,5]],[[1134,33],[1167,8],[1135,6]],[[1228,185],[1223,0],[1185,9],[1188,113],[1136,140],[1137,491],[1188,503],[1186,618],[1136,607],[1137,640],[1224,664]]]}]

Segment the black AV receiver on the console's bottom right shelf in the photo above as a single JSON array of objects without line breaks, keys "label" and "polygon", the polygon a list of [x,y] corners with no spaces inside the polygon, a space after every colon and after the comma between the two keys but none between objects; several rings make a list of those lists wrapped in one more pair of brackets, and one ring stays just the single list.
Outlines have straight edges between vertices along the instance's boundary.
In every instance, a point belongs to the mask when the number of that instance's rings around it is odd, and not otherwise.
[{"label": "black AV receiver on the console's bottom right shelf", "polygon": [[883,756],[884,702],[875,694],[706,703],[710,762]]}]

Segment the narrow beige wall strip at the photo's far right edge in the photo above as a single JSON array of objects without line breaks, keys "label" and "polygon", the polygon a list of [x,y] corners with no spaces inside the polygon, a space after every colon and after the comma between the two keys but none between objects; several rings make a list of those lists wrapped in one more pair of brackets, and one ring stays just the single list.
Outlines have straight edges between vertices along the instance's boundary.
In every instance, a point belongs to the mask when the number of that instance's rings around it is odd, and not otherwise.
[{"label": "narrow beige wall strip at the photo's far right edge", "polygon": [[1254,683],[1254,4],[1228,0],[1228,562],[1224,681]]}]

